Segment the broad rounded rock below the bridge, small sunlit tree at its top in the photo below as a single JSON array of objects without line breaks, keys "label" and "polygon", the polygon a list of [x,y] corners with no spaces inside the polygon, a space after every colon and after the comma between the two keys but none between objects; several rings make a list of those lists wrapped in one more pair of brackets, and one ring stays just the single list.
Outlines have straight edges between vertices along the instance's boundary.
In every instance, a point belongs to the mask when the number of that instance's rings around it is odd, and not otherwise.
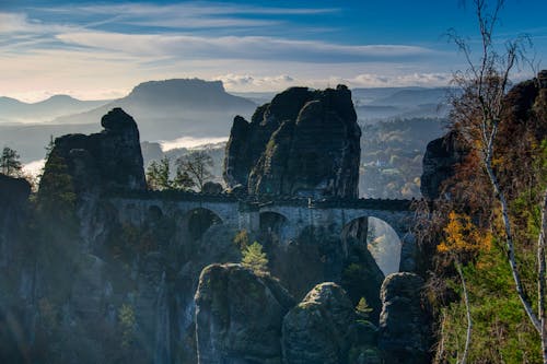
[{"label": "broad rounded rock below the bridge, small sunlit tree at its top", "polygon": [[195,300],[199,363],[282,363],[281,322],[294,303],[278,281],[240,265],[212,265]]}]

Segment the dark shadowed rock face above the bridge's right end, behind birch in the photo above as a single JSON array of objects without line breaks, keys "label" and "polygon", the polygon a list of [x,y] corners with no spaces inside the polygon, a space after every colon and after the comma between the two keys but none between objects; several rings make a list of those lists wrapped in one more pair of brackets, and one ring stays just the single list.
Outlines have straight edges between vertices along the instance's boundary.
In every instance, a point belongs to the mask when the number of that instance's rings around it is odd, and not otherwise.
[{"label": "dark shadowed rock face above the bridge's right end, behind birch", "polygon": [[422,161],[421,195],[429,200],[437,199],[467,154],[468,149],[453,131],[429,142]]}]

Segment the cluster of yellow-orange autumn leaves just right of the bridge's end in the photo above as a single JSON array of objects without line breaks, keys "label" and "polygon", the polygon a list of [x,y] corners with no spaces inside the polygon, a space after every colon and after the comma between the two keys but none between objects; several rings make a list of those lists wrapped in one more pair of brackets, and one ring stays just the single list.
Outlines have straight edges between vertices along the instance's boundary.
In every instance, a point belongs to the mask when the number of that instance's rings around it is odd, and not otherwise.
[{"label": "cluster of yellow-orange autumn leaves just right of the bridge's end", "polygon": [[443,232],[444,239],[437,247],[439,253],[462,254],[490,250],[491,233],[481,231],[466,214],[451,211],[449,223]]}]

